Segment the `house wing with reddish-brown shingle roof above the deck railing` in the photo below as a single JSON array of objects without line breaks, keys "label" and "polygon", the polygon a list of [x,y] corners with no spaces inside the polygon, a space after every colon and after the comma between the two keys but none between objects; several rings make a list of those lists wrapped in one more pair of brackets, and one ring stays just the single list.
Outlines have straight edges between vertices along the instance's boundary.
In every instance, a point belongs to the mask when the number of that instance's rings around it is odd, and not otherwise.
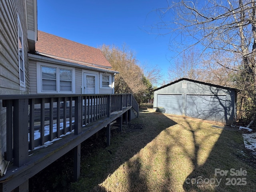
[{"label": "house wing with reddish-brown shingle roof above the deck railing", "polygon": [[38,30],[28,54],[30,94],[114,94],[114,76],[101,50]]}]

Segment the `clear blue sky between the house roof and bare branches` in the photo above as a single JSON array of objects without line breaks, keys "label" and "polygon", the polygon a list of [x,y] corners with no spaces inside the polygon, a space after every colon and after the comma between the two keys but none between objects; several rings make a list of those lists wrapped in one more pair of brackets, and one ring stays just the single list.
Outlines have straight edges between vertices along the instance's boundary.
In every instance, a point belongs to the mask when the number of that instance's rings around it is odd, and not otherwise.
[{"label": "clear blue sky between the house roof and bare branches", "polygon": [[[38,30],[98,47],[126,44],[141,64],[157,65],[166,79],[170,35],[149,34],[166,0],[38,0]],[[172,62],[172,61],[171,61]]]}]

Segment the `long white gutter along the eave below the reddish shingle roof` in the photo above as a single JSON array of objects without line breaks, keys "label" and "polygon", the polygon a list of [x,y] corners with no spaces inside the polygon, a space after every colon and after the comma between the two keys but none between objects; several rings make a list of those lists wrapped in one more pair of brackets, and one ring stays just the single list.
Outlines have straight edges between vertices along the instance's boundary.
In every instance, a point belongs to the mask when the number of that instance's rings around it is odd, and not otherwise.
[{"label": "long white gutter along the eave below the reddish shingle roof", "polygon": [[77,64],[77,63],[72,63],[72,62],[68,62],[68,61],[62,61],[62,60],[50,58],[50,57],[35,55],[35,54],[31,54],[31,53],[28,53],[28,59],[32,60],[32,61],[48,62],[48,63],[52,63],[52,64],[60,64],[60,65],[65,65],[65,66],[73,66],[73,67],[78,67],[78,68],[82,68],[82,69],[89,69],[89,70],[94,70],[94,71],[100,71],[100,72],[108,72],[108,73],[116,73],[116,74],[120,73],[118,71],[81,65],[81,64]]}]

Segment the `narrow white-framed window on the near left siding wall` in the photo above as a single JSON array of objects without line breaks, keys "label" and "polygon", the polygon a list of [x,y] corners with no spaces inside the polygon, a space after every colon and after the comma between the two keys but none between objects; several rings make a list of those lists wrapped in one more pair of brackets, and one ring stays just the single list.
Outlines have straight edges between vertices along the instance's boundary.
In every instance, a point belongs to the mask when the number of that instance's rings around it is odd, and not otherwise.
[{"label": "narrow white-framed window on the near left siding wall", "polygon": [[[23,31],[22,31],[22,25],[21,25],[21,23],[20,23],[20,17],[19,17],[19,15],[17,15],[18,16],[18,25],[17,25],[17,29],[18,29],[18,63],[19,63],[19,80],[20,80],[20,86],[21,87],[26,87],[26,79],[25,79],[25,73],[26,73],[26,70],[25,70],[25,63],[24,63],[24,41],[23,41],[23,38],[24,38],[24,36],[23,36]],[[20,50],[19,50],[19,36],[20,36],[20,34],[19,34],[19,28],[21,29],[21,36],[22,36],[22,38],[21,38],[21,44],[22,44],[22,66],[23,66],[23,79],[24,79],[24,81],[22,81],[21,80],[21,74],[20,74],[20,70],[21,70],[21,66],[20,66]]]}]

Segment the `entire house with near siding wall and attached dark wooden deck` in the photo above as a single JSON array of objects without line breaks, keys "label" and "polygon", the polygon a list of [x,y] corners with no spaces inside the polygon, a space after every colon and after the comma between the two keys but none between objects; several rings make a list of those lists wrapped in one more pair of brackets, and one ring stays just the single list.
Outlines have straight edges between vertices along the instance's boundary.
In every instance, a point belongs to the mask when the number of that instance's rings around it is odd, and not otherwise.
[{"label": "entire house with near siding wall and attached dark wooden deck", "polygon": [[106,128],[109,145],[110,124],[122,130],[138,103],[114,94],[99,49],[37,30],[36,0],[0,1],[0,14],[0,192],[28,191],[70,150],[77,180],[81,143]]}]

